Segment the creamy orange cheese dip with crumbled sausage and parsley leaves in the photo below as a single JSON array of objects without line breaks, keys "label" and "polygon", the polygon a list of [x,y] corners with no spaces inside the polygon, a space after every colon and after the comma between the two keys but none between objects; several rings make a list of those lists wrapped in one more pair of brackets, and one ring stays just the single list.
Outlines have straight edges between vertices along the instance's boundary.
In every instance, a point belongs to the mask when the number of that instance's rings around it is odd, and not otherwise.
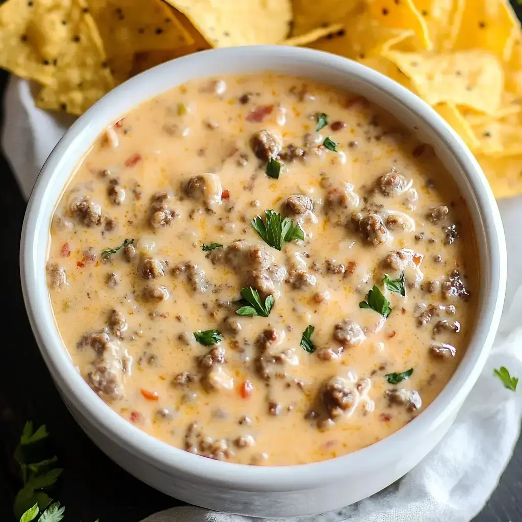
[{"label": "creamy orange cheese dip with crumbled sausage and parsley leaves", "polygon": [[353,452],[430,404],[466,350],[479,262],[414,130],[264,74],[188,82],[107,128],[57,204],[47,270],[70,357],[114,411],[277,466]]}]

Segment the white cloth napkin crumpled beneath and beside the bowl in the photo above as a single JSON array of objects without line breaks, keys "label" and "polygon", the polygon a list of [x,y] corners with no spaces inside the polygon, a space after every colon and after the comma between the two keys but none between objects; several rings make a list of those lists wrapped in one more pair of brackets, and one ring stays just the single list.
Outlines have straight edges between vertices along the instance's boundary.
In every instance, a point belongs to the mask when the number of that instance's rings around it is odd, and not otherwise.
[{"label": "white cloth napkin crumpled beneath and beside the bowl", "polygon": [[[4,153],[23,194],[29,197],[38,172],[70,118],[34,107],[30,86],[11,77],[4,99]],[[369,499],[306,522],[468,522],[497,482],[520,430],[522,390],[506,390],[493,368],[508,367],[522,378],[522,197],[500,201],[508,247],[508,290],[499,334],[482,375],[444,440],[404,478]],[[198,507],[175,507],[143,522],[247,522],[250,517]]]}]

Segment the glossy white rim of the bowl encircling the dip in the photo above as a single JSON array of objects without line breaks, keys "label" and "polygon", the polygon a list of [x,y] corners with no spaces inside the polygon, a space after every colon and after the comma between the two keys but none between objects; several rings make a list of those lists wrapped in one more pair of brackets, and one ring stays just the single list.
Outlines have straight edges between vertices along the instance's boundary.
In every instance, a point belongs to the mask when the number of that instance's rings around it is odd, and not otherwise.
[{"label": "glossy white rim of the bowl encircling the dip", "polygon": [[[473,342],[470,342],[464,359],[435,400],[404,428],[377,443],[333,459],[293,466],[246,466],[208,459],[162,442],[123,419],[92,392],[75,369],[63,343],[56,342],[56,335],[59,336],[59,334],[57,334],[55,324],[50,325],[45,322],[42,315],[42,310],[51,308],[50,300],[42,303],[41,295],[39,298],[37,292],[42,285],[46,289],[46,282],[41,281],[41,278],[38,277],[37,267],[40,263],[44,264],[45,260],[42,259],[41,253],[38,258],[35,238],[38,237],[38,234],[45,233],[45,228],[46,233],[49,234],[49,221],[48,224],[42,223],[42,215],[46,211],[42,209],[45,205],[41,202],[53,198],[52,216],[55,201],[58,200],[61,193],[53,192],[49,189],[49,184],[54,174],[60,170],[61,158],[75,143],[75,140],[79,139],[81,129],[91,125],[92,121],[100,117],[99,114],[103,114],[104,109],[108,108],[117,97],[128,96],[132,103],[128,103],[127,111],[131,110],[140,102],[150,98],[149,96],[136,98],[135,90],[140,85],[153,80],[161,81],[162,76],[168,77],[169,72],[188,65],[188,62],[200,70],[208,60],[245,61],[248,57],[249,62],[255,63],[260,56],[264,58],[282,56],[292,62],[310,63],[311,67],[317,67],[320,62],[323,67],[336,68],[342,74],[357,78],[363,84],[373,86],[384,92],[386,96],[395,98],[406,109],[418,116],[425,126],[431,128],[444,142],[445,148],[456,159],[464,172],[476,198],[480,216],[483,218],[481,224],[487,240],[487,254],[490,260],[487,267],[489,278],[487,281],[481,280],[481,283],[487,282],[488,288],[481,288],[481,292],[488,292],[487,304],[476,319]],[[292,74],[292,71],[289,74]],[[194,75],[194,77],[197,76],[208,75]],[[165,85],[161,91],[166,91],[175,85],[179,85],[179,81]],[[105,124],[109,123],[110,121],[105,120]],[[79,157],[77,161],[79,162],[81,159]],[[450,175],[455,177],[455,173],[450,172]],[[62,187],[62,191],[63,189],[64,187]],[[456,412],[476,382],[499,326],[506,286],[506,246],[500,212],[481,168],[460,137],[429,105],[395,81],[357,62],[347,60],[347,58],[312,49],[256,45],[201,51],[153,67],[113,89],[80,116],[45,161],[31,193],[21,234],[20,274],[23,298],[33,334],[53,380],[67,400],[80,408],[80,411],[86,414],[87,418],[91,419],[105,436],[131,450],[135,456],[146,461],[148,465],[168,470],[169,473],[176,476],[211,483],[221,488],[277,492],[315,488],[318,485],[332,483],[357,470],[364,469],[366,472],[378,470],[384,463],[399,458],[401,448],[415,446],[420,433],[434,430],[444,418],[452,412]]]}]

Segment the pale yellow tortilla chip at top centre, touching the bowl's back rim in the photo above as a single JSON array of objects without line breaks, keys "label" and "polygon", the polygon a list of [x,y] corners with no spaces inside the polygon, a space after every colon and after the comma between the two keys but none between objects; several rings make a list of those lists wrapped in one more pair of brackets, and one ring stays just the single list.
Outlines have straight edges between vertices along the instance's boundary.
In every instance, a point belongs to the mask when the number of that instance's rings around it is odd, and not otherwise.
[{"label": "pale yellow tortilla chip at top centre, touching the bowl's back rim", "polygon": [[213,47],[277,43],[290,29],[290,0],[167,0]]}]

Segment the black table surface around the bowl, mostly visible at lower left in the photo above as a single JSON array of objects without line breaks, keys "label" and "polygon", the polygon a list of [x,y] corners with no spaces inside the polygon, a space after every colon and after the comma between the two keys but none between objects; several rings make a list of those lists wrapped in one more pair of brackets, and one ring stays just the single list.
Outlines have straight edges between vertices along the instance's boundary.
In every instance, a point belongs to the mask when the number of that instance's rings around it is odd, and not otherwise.
[{"label": "black table surface around the bowl, mostly visible at lower left", "polygon": [[[522,9],[519,7],[519,11]],[[7,75],[0,73],[3,92]],[[66,519],[79,522],[138,522],[145,516],[180,504],[116,466],[87,436],[58,396],[33,339],[23,306],[18,248],[26,203],[3,155],[0,175],[0,220],[4,274],[0,292],[3,310],[0,341],[0,521],[14,520],[11,506],[20,488],[13,452],[26,420],[45,423],[50,452],[64,468],[51,496],[66,506]],[[412,520],[411,522],[416,522]],[[473,522],[522,522],[522,439],[499,486]]]}]

